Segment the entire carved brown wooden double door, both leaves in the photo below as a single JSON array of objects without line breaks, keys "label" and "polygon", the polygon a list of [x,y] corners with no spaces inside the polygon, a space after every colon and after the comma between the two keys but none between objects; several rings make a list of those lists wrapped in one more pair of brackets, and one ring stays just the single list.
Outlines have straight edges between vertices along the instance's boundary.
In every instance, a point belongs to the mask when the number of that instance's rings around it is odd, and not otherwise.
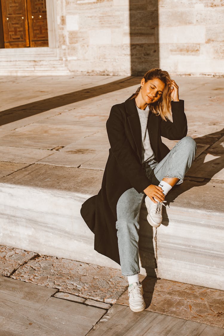
[{"label": "entire carved brown wooden double door, both leaves", "polygon": [[46,0],[0,2],[5,48],[48,46]]}]

